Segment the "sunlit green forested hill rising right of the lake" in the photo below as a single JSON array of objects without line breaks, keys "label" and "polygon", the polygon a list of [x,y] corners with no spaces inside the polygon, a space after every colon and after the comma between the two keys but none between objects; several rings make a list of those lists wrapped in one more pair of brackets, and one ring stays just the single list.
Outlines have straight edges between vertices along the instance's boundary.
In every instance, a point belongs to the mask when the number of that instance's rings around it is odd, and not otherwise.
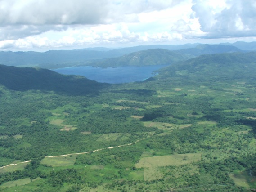
[{"label": "sunlit green forested hill rising right of the lake", "polygon": [[192,83],[243,78],[253,81],[256,79],[256,52],[201,55],[160,71],[161,78],[180,78]]}]

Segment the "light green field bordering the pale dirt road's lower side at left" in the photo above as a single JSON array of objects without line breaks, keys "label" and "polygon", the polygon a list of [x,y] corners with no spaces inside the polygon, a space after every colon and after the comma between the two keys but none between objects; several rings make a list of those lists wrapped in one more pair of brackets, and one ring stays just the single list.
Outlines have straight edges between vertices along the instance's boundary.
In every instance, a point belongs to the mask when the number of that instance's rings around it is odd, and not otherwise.
[{"label": "light green field bordering the pale dirt road's lower side at left", "polygon": [[59,157],[47,157],[41,160],[42,165],[52,166],[52,167],[62,167],[74,165],[77,155],[71,156],[59,156]]}]

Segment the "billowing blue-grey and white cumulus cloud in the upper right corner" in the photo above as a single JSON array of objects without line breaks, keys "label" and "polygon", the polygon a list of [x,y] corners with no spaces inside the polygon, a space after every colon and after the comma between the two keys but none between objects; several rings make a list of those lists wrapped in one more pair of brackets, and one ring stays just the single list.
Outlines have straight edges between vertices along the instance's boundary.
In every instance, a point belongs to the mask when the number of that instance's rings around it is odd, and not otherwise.
[{"label": "billowing blue-grey and white cumulus cloud in the upper right corner", "polygon": [[[256,1],[222,0],[222,6],[209,1],[193,0],[192,9],[205,38],[255,36]],[[194,17],[192,15],[192,17]]]}]

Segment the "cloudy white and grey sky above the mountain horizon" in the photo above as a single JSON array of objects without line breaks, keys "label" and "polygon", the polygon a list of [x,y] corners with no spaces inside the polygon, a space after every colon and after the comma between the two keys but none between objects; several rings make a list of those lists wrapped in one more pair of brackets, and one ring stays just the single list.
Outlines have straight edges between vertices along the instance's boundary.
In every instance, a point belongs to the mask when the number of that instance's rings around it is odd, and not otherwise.
[{"label": "cloudy white and grey sky above the mountain horizon", "polygon": [[256,0],[0,0],[0,51],[256,41]]}]

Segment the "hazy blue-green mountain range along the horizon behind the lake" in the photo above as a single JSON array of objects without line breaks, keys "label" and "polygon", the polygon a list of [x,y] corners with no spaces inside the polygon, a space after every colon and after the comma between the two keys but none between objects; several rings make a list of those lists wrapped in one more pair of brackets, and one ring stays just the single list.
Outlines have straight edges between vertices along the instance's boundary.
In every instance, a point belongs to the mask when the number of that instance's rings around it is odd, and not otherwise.
[{"label": "hazy blue-green mountain range along the horizon behind the lake", "polygon": [[[152,51],[152,49],[155,49],[155,51]],[[98,67],[156,65],[182,61],[202,54],[243,52],[244,50],[256,50],[256,42],[236,42],[220,45],[148,45],[121,49],[99,47],[50,50],[44,53],[2,51],[0,52],[0,64],[48,69],[87,65],[97,65]],[[135,59],[136,57],[137,59]]]}]

